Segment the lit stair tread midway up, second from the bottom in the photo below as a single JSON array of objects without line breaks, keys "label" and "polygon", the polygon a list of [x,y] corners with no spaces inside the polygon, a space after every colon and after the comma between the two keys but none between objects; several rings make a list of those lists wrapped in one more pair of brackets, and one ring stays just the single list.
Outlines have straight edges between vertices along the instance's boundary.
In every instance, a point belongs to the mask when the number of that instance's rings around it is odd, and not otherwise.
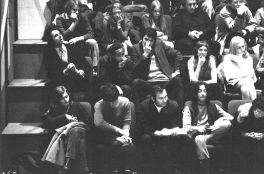
[{"label": "lit stair tread midway up, second from the bottom", "polygon": [[45,87],[45,83],[50,82],[48,79],[14,79],[8,87]]}]

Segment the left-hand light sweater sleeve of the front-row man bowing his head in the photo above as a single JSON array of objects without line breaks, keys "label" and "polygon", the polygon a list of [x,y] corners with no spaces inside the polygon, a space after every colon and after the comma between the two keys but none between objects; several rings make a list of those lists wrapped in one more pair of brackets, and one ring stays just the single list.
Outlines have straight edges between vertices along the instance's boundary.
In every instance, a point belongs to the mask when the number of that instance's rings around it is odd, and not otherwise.
[{"label": "left-hand light sweater sleeve of the front-row man bowing his head", "polygon": [[117,133],[117,127],[105,120],[103,109],[103,106],[98,102],[94,105],[94,125],[101,130]]}]

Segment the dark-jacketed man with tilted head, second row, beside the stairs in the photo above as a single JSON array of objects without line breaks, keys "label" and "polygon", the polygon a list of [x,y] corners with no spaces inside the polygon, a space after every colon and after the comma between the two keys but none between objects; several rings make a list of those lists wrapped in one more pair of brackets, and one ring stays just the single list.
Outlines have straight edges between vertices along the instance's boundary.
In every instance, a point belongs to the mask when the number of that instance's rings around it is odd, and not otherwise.
[{"label": "dark-jacketed man with tilted head, second row, beside the stairs", "polygon": [[49,49],[44,54],[44,63],[48,78],[52,80],[50,87],[53,89],[55,86],[64,85],[72,93],[87,91],[91,66],[81,52],[64,44],[64,38],[56,26],[48,28],[46,40]]}]

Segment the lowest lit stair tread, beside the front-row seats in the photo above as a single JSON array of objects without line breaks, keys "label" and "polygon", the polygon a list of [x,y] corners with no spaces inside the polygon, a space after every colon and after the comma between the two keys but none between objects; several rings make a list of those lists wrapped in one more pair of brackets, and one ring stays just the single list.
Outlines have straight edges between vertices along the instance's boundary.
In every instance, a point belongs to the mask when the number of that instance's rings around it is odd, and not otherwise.
[{"label": "lowest lit stair tread, beside the front-row seats", "polygon": [[48,134],[49,129],[40,128],[42,122],[8,123],[2,134]]}]

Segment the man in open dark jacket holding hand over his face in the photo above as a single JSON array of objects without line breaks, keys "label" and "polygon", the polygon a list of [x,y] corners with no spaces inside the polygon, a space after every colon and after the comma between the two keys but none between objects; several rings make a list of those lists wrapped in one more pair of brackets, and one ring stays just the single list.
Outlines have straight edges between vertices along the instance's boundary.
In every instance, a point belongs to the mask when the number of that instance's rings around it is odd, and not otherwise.
[{"label": "man in open dark jacket holding hand over his face", "polygon": [[140,102],[150,94],[153,85],[165,85],[169,98],[183,106],[183,90],[179,74],[181,54],[157,40],[157,32],[147,28],[142,41],[132,46],[131,59],[134,61],[132,91],[136,112]]}]

